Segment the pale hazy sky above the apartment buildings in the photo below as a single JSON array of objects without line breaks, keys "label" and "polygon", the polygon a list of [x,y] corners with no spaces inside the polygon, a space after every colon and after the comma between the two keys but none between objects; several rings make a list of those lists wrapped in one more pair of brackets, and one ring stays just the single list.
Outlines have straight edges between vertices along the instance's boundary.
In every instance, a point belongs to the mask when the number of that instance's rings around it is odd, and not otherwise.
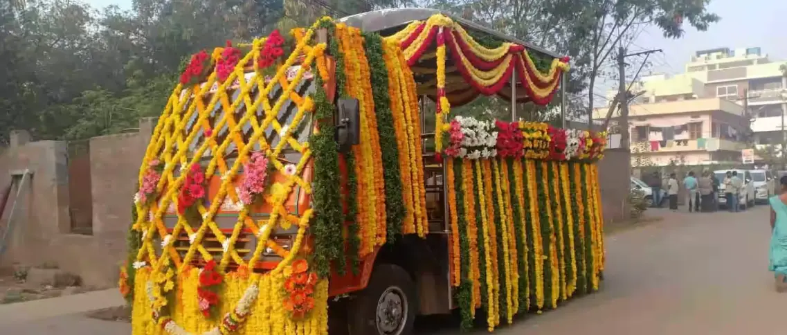
[{"label": "pale hazy sky above the apartment buildings", "polygon": [[[94,8],[109,5],[131,9],[131,0],[85,0]],[[685,23],[686,33],[682,39],[665,39],[658,28],[646,28],[637,35],[637,39],[629,46],[629,52],[661,49],[663,53],[653,54],[648,61],[652,66],[644,71],[665,72],[670,74],[684,72],[685,63],[697,50],[717,47],[748,48],[759,46],[771,60],[787,60],[787,36],[783,13],[787,13],[785,0],[711,0],[708,11],[716,13],[722,19],[712,24],[708,31],[696,31],[688,22]],[[639,66],[637,59],[629,59],[633,66],[628,70],[636,72]],[[598,103],[604,105],[603,99],[611,83],[603,83],[594,92]]]}]

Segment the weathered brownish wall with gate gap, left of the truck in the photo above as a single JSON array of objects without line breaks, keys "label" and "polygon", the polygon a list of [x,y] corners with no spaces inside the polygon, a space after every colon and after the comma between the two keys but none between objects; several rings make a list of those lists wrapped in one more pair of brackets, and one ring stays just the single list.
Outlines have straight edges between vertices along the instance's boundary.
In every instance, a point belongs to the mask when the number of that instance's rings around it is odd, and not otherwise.
[{"label": "weathered brownish wall with gate gap, left of the truck", "polygon": [[6,205],[0,224],[9,223],[14,230],[0,267],[57,264],[79,274],[85,285],[115,285],[139,162],[153,126],[153,120],[142,120],[138,133],[90,139],[91,186],[83,192],[92,197],[92,235],[71,231],[67,143],[26,142],[26,132],[14,134],[11,146],[0,154],[0,186],[8,185],[11,171],[28,168],[33,177],[23,186],[11,221],[7,216],[16,190]]}]

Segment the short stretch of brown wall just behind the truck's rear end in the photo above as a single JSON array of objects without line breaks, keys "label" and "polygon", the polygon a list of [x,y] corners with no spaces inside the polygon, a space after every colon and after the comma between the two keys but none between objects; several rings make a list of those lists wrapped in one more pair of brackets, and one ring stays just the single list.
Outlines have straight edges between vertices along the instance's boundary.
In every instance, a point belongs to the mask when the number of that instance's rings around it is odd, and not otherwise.
[{"label": "short stretch of brown wall just behind the truck's rear end", "polygon": [[619,222],[630,218],[630,153],[622,149],[607,149],[598,162],[598,181],[604,222]]}]

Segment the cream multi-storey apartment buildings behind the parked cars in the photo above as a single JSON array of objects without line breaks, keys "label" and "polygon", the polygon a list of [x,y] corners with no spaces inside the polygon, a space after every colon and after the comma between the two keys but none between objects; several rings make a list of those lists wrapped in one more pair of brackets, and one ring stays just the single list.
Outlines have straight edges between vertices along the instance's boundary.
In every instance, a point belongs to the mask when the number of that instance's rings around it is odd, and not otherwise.
[{"label": "cream multi-storey apartment buildings behind the parked cars", "polygon": [[[740,162],[747,142],[781,142],[781,64],[759,48],[718,48],[697,51],[681,74],[644,76],[631,89],[633,164]],[[596,109],[594,119],[607,109]],[[619,135],[612,135],[616,143]]]}]

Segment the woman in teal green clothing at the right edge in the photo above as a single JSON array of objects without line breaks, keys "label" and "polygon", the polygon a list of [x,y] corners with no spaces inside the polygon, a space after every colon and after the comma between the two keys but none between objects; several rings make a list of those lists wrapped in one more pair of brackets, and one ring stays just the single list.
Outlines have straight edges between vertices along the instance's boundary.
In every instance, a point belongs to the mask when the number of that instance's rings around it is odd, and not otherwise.
[{"label": "woman in teal green clothing at the right edge", "polygon": [[779,179],[781,190],[770,197],[770,262],[776,291],[787,292],[787,175]]}]

